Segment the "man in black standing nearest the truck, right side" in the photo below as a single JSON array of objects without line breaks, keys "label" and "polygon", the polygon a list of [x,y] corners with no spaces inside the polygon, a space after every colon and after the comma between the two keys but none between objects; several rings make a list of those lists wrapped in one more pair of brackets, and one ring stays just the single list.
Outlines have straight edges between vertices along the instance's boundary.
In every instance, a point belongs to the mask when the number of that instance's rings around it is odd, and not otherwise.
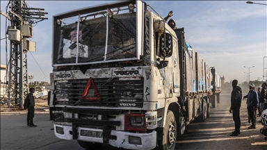
[{"label": "man in black standing nearest the truck, right side", "polygon": [[231,93],[231,108],[229,113],[233,112],[234,119],[234,132],[230,136],[238,136],[240,134],[241,120],[240,120],[240,108],[242,99],[242,89],[237,85],[238,81],[232,81],[233,90]]}]

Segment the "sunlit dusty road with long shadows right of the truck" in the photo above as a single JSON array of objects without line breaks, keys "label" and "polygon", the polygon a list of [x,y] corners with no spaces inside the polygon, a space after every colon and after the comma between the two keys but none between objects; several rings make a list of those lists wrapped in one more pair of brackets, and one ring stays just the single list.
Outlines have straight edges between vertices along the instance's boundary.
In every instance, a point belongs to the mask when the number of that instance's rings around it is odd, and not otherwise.
[{"label": "sunlit dusty road with long shadows right of the truck", "polygon": [[[229,113],[230,94],[221,94],[221,103],[211,108],[211,115],[205,122],[193,122],[188,126],[188,133],[179,137],[176,149],[267,149],[267,140],[259,133],[261,124],[256,129],[248,130],[245,101],[241,106],[241,135],[229,136],[234,131],[234,121]],[[258,121],[258,119],[257,119]]]}]

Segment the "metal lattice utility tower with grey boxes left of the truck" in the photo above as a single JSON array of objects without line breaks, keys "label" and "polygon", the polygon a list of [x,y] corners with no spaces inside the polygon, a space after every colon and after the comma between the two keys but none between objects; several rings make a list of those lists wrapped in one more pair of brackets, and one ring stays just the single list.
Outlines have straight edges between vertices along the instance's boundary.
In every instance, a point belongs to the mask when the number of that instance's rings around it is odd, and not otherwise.
[{"label": "metal lattice utility tower with grey boxes left of the truck", "polygon": [[48,19],[44,17],[44,14],[48,13],[42,8],[28,8],[25,0],[9,1],[8,8],[10,8],[8,15],[1,12],[1,15],[10,20],[10,26],[8,26],[8,40],[10,40],[8,108],[10,108],[11,101],[15,101],[15,106],[22,108],[24,98],[29,91],[27,52],[35,51],[35,42],[27,38],[33,37],[32,25]]}]

